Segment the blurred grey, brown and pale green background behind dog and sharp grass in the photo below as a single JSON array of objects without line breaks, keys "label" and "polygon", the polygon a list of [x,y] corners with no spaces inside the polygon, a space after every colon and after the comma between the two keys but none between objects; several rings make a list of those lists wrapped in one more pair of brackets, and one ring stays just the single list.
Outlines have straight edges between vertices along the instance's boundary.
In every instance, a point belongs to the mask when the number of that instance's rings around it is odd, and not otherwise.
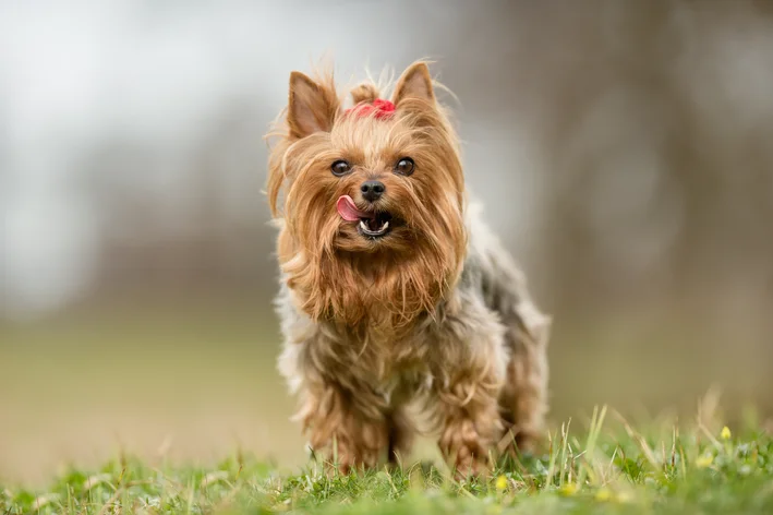
[{"label": "blurred grey, brown and pale green background behind dog and sharp grass", "polygon": [[773,411],[773,3],[0,1],[0,478],[304,463],[262,189],[292,70],[428,57],[555,316],[552,420]]}]

